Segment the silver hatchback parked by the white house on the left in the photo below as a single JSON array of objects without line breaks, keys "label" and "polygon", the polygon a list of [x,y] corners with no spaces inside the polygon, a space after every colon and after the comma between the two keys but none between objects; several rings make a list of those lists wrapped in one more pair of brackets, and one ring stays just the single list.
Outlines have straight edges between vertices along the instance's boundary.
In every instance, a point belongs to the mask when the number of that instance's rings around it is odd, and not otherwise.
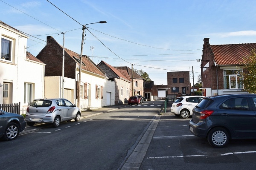
[{"label": "silver hatchback parked by the white house on the left", "polygon": [[61,122],[80,120],[81,111],[67,99],[35,99],[26,110],[26,123],[29,126],[37,122],[53,123],[58,127]]}]

